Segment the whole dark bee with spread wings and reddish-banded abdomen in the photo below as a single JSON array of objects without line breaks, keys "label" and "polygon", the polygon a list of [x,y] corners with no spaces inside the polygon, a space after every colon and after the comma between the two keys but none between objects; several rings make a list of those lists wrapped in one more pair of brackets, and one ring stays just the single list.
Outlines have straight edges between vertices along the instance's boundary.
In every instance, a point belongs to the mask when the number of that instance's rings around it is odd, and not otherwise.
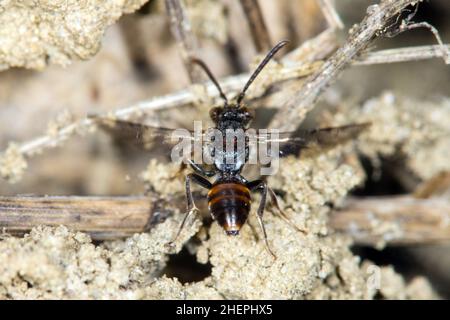
[{"label": "whole dark bee with spread wings and reddish-banded abdomen", "polygon": [[[270,59],[286,44],[287,41],[282,41],[270,50],[250,76],[243,90],[233,101],[227,99],[208,67],[202,61],[192,59],[194,63],[199,65],[205,71],[212,83],[217,87],[224,103],[222,106],[212,108],[210,111],[211,120],[215,125],[213,128],[216,132],[216,135],[213,136],[215,139],[209,137],[208,139],[211,140],[212,143],[205,143],[202,145],[204,153],[212,159],[212,169],[207,170],[202,164],[196,163],[192,157],[184,159],[184,163],[189,164],[194,172],[189,173],[186,176],[187,213],[185,214],[183,222],[173,241],[180,235],[188,218],[198,212],[191,190],[193,183],[208,190],[207,200],[211,217],[222,226],[225,233],[229,236],[236,236],[239,234],[239,230],[247,221],[250,213],[252,203],[251,193],[260,192],[261,201],[256,211],[257,219],[263,233],[266,248],[273,256],[275,256],[268,245],[267,234],[262,220],[267,197],[270,198],[276,212],[284,221],[298,231],[304,231],[296,227],[283,210],[281,210],[275,192],[264,180],[247,181],[241,175],[241,172],[245,164],[248,163],[250,157],[251,143],[265,145],[268,143],[279,143],[281,148],[277,155],[285,156],[292,153],[292,150],[299,151],[302,148],[309,148],[311,146],[332,147],[340,142],[356,137],[367,126],[367,124],[352,124],[342,127],[321,128],[309,131],[285,132],[278,133],[275,138],[267,135],[247,134],[253,116],[243,103],[246,91]],[[173,129],[150,127],[121,120],[114,120],[114,123],[111,126],[111,124],[107,125],[108,120],[106,119],[96,120],[98,120],[98,123],[108,131],[113,131],[122,136],[128,134],[128,136],[134,137],[140,144],[145,145],[151,141],[158,141],[160,143],[167,141],[173,142],[173,139],[171,138]],[[237,130],[241,130],[241,132],[244,133],[243,148],[236,148],[236,137],[229,139],[227,136],[230,131],[236,132]],[[219,135],[217,135],[217,132]],[[206,133],[203,133],[203,135],[206,136]],[[192,136],[190,137],[192,138]],[[220,142],[218,142],[219,140]],[[215,179],[211,182],[208,178],[213,177],[215,177]]]}]

